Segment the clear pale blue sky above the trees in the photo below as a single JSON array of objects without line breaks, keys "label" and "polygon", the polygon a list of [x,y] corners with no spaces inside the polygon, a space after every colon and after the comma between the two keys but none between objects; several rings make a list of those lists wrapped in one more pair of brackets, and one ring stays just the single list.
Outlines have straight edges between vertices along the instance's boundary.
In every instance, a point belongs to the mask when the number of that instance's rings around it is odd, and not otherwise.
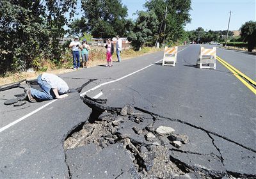
[{"label": "clear pale blue sky above the trees", "polygon": [[[122,0],[122,4],[128,8],[128,17],[136,19],[132,15],[137,10],[144,10],[143,0]],[[187,24],[186,30],[194,30],[203,27],[205,30],[226,30],[228,26],[229,12],[231,10],[230,30],[238,30],[244,22],[256,20],[256,0],[191,0],[192,5],[189,13],[191,23]]]}]

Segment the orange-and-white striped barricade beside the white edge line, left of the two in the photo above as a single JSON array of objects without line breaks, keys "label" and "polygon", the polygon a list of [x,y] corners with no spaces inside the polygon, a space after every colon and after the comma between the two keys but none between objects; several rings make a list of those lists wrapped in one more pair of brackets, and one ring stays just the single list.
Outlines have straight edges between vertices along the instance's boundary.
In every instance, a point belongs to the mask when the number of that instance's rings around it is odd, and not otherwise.
[{"label": "orange-and-white striped barricade beside the white edge line, left of the two", "polygon": [[177,52],[178,52],[178,47],[165,47],[164,49],[164,58],[163,58],[163,66],[164,65],[170,65],[170,66],[175,66],[177,62]]}]

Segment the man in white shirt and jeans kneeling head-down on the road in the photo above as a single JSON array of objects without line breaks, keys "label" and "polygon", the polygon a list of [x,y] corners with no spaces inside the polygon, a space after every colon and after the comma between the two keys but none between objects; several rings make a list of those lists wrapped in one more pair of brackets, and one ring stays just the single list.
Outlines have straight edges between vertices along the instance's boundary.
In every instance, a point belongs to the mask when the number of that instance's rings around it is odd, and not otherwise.
[{"label": "man in white shirt and jeans kneeling head-down on the road", "polygon": [[25,89],[26,98],[29,102],[37,102],[43,100],[60,99],[67,97],[69,91],[68,85],[63,79],[54,74],[41,74],[37,77],[37,83],[42,91],[37,89]]}]

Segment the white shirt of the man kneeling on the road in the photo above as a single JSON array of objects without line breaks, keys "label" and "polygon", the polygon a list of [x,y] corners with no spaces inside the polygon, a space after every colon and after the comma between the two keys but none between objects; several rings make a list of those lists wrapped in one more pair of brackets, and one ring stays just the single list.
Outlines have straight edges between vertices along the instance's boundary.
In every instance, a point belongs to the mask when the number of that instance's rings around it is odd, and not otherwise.
[{"label": "white shirt of the man kneeling on the road", "polygon": [[63,79],[57,75],[44,73],[41,79],[45,80],[51,88],[58,89],[60,95],[68,92],[69,88],[67,82],[63,81]]}]

